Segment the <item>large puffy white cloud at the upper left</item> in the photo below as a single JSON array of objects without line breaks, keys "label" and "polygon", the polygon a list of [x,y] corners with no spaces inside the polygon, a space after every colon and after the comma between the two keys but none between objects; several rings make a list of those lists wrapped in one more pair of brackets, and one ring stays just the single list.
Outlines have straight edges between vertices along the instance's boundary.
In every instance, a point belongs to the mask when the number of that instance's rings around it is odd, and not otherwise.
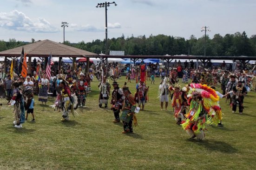
[{"label": "large puffy white cloud at the upper left", "polygon": [[26,32],[58,32],[59,29],[52,26],[46,19],[38,18],[32,21],[25,13],[13,10],[0,12],[0,27],[7,30],[20,30]]}]

